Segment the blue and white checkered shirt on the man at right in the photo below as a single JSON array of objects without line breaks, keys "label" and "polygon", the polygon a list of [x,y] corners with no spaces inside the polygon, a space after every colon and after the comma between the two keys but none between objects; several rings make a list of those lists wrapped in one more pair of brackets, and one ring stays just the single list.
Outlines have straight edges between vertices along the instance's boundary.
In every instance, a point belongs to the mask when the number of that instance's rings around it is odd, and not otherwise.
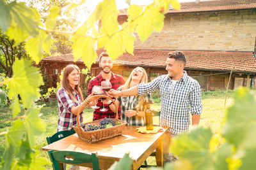
[{"label": "blue and white checkered shirt on the man at right", "polygon": [[202,113],[202,96],[199,83],[186,71],[175,85],[168,74],[155,78],[150,83],[139,84],[138,94],[159,89],[161,95],[160,125],[170,127],[170,132],[179,134],[188,131],[190,116]]}]

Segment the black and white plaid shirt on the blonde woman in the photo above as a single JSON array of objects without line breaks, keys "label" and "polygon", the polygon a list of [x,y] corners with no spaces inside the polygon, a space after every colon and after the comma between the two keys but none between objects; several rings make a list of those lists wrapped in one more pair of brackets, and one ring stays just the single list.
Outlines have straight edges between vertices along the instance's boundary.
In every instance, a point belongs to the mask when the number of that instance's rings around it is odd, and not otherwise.
[{"label": "black and white plaid shirt on the blonde woman", "polygon": [[[117,90],[122,90],[118,88]],[[125,110],[136,110],[136,106],[139,102],[138,96],[120,96],[116,98],[120,102],[121,106],[121,118],[125,122],[127,122],[128,125],[143,125],[145,126],[145,117],[127,117],[125,116],[124,111]],[[144,98],[144,101],[151,101],[152,98],[150,94],[147,94]],[[141,108],[138,108],[138,111],[144,111],[143,106]]]}]

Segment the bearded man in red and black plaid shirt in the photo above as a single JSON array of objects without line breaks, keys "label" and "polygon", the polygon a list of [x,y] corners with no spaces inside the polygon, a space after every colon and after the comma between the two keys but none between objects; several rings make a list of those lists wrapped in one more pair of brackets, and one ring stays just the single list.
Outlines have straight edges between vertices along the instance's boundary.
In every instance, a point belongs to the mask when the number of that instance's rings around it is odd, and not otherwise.
[{"label": "bearded man in red and black plaid shirt", "polygon": [[[107,52],[100,53],[99,57],[99,67],[101,69],[101,72],[98,76],[93,78],[88,85],[87,94],[88,96],[92,94],[92,88],[95,85],[101,85],[101,81],[109,80],[111,82],[112,88],[111,89],[117,89],[121,85],[124,85],[125,81],[124,78],[118,74],[114,74],[111,69],[113,67],[113,60],[109,57]],[[100,111],[100,108],[103,108],[102,101],[98,101],[97,106],[99,106],[99,109],[95,109],[93,112],[93,120],[99,120],[105,117],[115,118],[116,113],[113,113],[111,109],[109,108],[108,104],[104,104],[104,108],[107,109],[107,111]],[[120,115],[120,108],[118,109],[118,117],[121,118]]]}]

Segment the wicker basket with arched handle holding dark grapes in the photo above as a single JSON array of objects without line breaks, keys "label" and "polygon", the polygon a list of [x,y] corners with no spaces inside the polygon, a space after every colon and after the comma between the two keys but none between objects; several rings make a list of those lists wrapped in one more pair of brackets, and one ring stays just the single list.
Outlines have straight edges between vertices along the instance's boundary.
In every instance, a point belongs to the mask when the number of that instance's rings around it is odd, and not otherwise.
[{"label": "wicker basket with arched handle holding dark grapes", "polygon": [[[102,95],[97,95],[99,97],[106,97],[108,99],[110,99],[114,104],[115,102],[113,101],[113,99],[111,99],[108,96],[102,96]],[[116,104],[115,104],[116,106]],[[118,108],[116,106],[116,112],[118,111]],[[122,121],[122,120],[118,120],[118,114],[116,114],[116,118],[111,118],[113,120],[115,120],[115,124],[117,124],[118,122],[120,123],[120,125],[115,125],[113,127],[108,127],[105,129],[98,129],[96,131],[84,131],[84,129],[81,127],[81,124],[79,123],[78,117],[77,117],[77,125],[72,126],[73,129],[76,131],[77,136],[88,142],[88,143],[95,143],[97,141],[101,141],[103,139],[108,139],[108,138],[113,138],[115,136],[121,135],[122,134],[122,130],[124,129],[124,126],[126,125],[126,122]],[[100,121],[101,120],[95,120],[93,122],[88,122],[85,123],[84,125],[87,126],[88,124],[91,125],[100,125]]]}]

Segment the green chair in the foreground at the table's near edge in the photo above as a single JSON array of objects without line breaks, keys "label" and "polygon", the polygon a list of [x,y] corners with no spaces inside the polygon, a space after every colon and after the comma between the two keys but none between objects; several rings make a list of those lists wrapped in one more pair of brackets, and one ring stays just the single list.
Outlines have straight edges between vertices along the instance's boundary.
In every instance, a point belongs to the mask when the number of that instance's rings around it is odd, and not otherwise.
[{"label": "green chair in the foreground at the table's near edge", "polygon": [[48,153],[54,170],[60,170],[58,161],[65,164],[92,163],[93,170],[99,170],[99,159],[97,157],[97,153],[92,153],[92,155],[90,155],[82,152],[53,150],[49,150]]}]

